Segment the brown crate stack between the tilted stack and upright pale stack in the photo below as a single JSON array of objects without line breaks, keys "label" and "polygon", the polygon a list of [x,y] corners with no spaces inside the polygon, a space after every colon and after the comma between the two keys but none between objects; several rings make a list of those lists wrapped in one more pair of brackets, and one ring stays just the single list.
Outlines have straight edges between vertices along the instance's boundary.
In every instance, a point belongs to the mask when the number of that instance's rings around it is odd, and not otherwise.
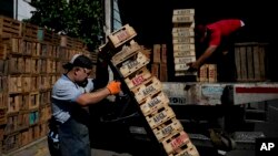
[{"label": "brown crate stack between the tilted stack and upright pale stack", "polygon": [[161,82],[168,81],[166,44],[153,44],[151,74],[157,76]]}]

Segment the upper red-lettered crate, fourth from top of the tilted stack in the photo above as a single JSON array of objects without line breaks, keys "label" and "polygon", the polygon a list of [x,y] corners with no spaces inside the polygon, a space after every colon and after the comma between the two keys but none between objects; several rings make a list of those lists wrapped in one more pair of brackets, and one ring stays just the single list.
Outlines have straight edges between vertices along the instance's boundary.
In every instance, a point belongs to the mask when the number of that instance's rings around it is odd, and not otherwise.
[{"label": "upper red-lettered crate, fourth from top of the tilted stack", "polygon": [[140,84],[142,84],[145,81],[149,80],[151,77],[151,74],[147,67],[142,67],[135,73],[130,74],[128,77],[125,79],[125,82],[127,83],[129,89],[133,89]]}]

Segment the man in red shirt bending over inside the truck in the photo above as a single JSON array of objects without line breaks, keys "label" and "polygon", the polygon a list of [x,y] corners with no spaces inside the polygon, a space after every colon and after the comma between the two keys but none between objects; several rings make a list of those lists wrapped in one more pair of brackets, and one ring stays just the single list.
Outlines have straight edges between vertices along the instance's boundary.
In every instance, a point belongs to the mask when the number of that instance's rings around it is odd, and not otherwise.
[{"label": "man in red shirt bending over inside the truck", "polygon": [[[227,19],[207,25],[197,25],[196,41],[199,41],[200,46],[205,45],[205,52],[196,62],[188,63],[190,70],[197,71],[216,51],[219,51],[221,55],[227,55],[228,50],[234,44],[235,32],[244,25],[245,23],[238,19]],[[219,52],[217,53],[219,54]]]}]

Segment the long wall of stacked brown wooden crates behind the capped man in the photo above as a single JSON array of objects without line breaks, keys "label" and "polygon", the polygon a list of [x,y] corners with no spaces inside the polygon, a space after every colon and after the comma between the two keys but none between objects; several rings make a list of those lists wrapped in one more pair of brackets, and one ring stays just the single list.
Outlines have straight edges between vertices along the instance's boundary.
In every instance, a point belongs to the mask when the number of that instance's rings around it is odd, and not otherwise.
[{"label": "long wall of stacked brown wooden crates behind the capped man", "polygon": [[50,94],[62,64],[76,53],[90,56],[80,40],[0,17],[0,153],[48,133]]}]

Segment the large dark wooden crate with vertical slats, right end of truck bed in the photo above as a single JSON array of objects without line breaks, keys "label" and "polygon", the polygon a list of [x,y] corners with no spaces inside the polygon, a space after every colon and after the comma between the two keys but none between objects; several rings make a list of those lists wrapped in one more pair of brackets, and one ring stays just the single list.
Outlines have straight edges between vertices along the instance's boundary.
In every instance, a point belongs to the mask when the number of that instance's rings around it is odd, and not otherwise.
[{"label": "large dark wooden crate with vertical slats, right end of truck bed", "polygon": [[267,43],[236,43],[235,62],[237,81],[265,81]]}]

